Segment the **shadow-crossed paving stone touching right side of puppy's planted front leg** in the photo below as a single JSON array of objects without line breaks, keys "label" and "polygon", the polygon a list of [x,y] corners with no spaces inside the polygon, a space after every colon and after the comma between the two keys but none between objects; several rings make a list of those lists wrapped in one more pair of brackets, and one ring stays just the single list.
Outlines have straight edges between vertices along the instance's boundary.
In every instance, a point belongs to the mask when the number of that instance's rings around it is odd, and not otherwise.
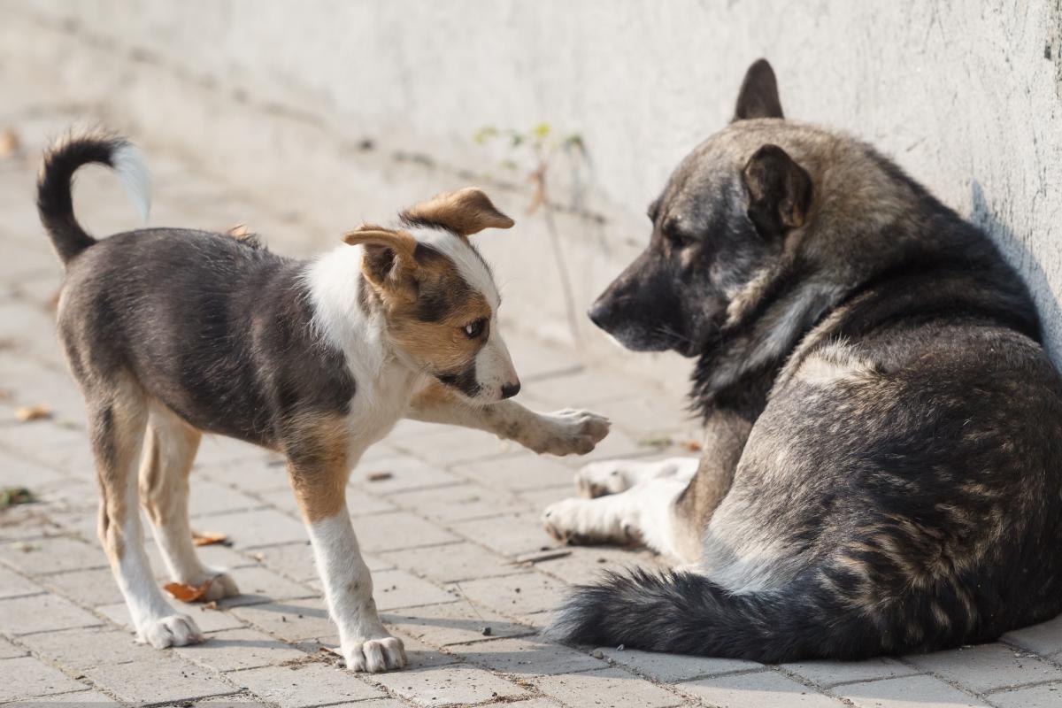
[{"label": "shadow-crossed paving stone touching right side of puppy's planted front leg", "polygon": [[[513,622],[486,607],[476,607],[464,600],[383,612],[381,619],[388,626],[436,646],[487,638],[516,637],[534,632],[525,624]],[[489,637],[483,634],[486,627],[490,627]]]}]

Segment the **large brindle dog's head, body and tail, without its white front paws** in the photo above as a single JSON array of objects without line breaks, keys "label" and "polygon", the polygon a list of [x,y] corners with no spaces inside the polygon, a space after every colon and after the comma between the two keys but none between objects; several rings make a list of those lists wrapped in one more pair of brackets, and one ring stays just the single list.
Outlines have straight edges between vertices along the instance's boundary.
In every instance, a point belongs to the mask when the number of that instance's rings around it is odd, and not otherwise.
[{"label": "large brindle dog's head, body and tail, without its white front paws", "polygon": [[673,512],[699,570],[583,587],[554,635],[776,662],[1056,616],[1062,380],[1025,286],[873,148],[782,119],[766,62],[737,117],[592,311],[630,348],[697,358],[707,434]]}]

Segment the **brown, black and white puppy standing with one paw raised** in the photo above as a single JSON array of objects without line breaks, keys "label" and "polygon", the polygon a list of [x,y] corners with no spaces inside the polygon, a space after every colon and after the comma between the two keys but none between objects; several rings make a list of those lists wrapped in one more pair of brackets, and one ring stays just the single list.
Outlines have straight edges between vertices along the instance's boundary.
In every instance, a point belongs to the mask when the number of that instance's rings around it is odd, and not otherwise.
[{"label": "brown, black and white puppy standing with one paw raised", "polygon": [[[346,664],[397,669],[346,511],[350,469],[401,417],[478,428],[536,452],[586,453],[607,432],[586,412],[532,413],[498,331],[499,297],[468,242],[512,220],[483,192],[443,194],[391,228],[363,226],[304,262],[253,240],[144,229],[98,242],[73,215],[82,165],[114,168],[147,212],[147,172],[124,140],[87,135],[45,157],[38,209],[66,265],[59,339],[88,409],[103,495],[100,538],[138,637],[202,639],[155,584],[138,506],[173,580],[237,594],[200,563],[188,473],[204,432],[284,453]],[[137,472],[139,468],[139,473]]]}]

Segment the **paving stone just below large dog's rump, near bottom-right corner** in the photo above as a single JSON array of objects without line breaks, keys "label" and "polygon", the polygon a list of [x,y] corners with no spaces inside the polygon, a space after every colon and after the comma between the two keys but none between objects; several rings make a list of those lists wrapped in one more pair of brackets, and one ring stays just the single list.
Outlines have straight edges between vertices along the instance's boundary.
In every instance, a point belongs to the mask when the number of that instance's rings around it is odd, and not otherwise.
[{"label": "paving stone just below large dog's rump, near bottom-right corner", "polygon": [[999,643],[917,654],[905,658],[919,669],[931,671],[975,693],[1062,679],[1062,670],[1058,667]]}]

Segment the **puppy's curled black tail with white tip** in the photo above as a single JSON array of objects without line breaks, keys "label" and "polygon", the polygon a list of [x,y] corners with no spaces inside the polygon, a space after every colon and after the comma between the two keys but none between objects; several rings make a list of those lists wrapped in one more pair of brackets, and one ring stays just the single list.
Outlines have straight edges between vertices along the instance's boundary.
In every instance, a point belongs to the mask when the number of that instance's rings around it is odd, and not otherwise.
[{"label": "puppy's curled black tail with white tip", "polygon": [[73,173],[89,162],[115,170],[140,215],[148,219],[151,182],[140,151],[107,133],[70,134],[45,152],[37,177],[37,213],[64,264],[96,243],[73,215]]}]

